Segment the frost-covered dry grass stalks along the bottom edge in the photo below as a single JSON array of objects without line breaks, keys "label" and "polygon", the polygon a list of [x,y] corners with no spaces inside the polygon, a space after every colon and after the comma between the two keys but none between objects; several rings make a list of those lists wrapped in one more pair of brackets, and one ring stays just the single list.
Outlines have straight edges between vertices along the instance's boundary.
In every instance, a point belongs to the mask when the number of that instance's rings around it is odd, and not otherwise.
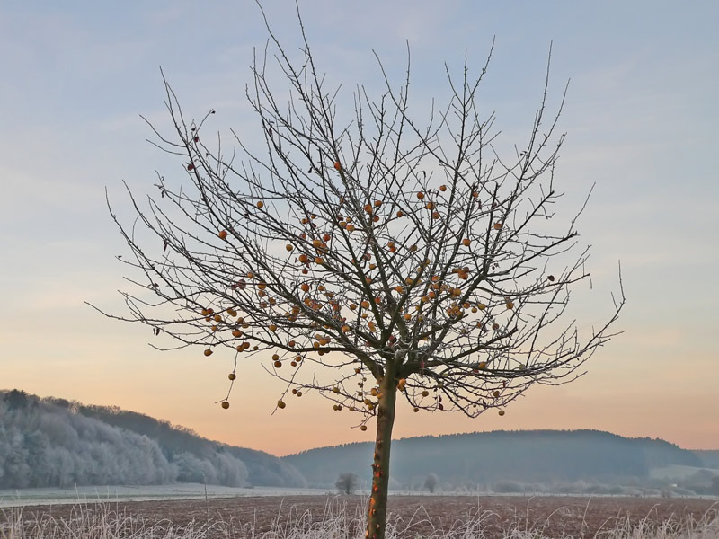
[{"label": "frost-covered dry grass stalks along the bottom edge", "polygon": [[[151,522],[146,517],[111,510],[109,504],[77,505],[67,518],[38,514],[22,508],[0,509],[0,539],[363,539],[364,503],[352,512],[346,502],[333,499],[325,504],[322,515],[309,510],[289,508],[286,517],[276,517],[267,530],[262,523],[239,522],[210,517],[174,526],[167,519]],[[510,519],[492,511],[477,510],[464,521],[448,527],[432,522],[430,515],[419,508],[406,523],[390,514],[387,539],[718,539],[719,508],[710,508],[702,517],[672,517],[663,522],[651,515],[639,522],[627,518],[608,518],[599,530],[589,531],[581,522],[582,531],[572,534],[557,526],[557,515],[567,511],[558,508],[544,522],[531,523],[520,513]],[[280,508],[281,512],[281,508]],[[551,522],[550,522],[551,520]]]}]

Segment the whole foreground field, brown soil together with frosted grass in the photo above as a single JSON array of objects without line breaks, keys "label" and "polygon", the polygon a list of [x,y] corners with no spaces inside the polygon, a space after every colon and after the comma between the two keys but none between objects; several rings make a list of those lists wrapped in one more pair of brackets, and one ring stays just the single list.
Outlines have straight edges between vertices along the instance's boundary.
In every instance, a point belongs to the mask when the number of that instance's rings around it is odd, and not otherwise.
[{"label": "whole foreground field, brown soil together with frosted grass", "polygon": [[[360,539],[365,502],[303,495],[5,508],[0,539]],[[708,499],[391,496],[387,537],[717,539],[718,510]]]}]

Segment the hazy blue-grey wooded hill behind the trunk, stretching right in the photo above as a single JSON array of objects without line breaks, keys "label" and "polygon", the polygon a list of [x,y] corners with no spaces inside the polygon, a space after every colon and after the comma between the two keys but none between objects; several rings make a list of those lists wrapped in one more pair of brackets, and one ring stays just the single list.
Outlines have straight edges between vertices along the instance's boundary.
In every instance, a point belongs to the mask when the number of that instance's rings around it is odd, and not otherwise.
[{"label": "hazy blue-grey wooded hill behind the trunk, stretching right", "polygon": [[[368,475],[373,445],[322,447],[283,460],[315,486],[332,485],[339,473]],[[597,430],[493,431],[393,441],[395,485],[422,484],[429,473],[454,485],[499,481],[533,483],[642,479],[669,464],[700,466],[697,455],[668,442],[626,438]]]}]

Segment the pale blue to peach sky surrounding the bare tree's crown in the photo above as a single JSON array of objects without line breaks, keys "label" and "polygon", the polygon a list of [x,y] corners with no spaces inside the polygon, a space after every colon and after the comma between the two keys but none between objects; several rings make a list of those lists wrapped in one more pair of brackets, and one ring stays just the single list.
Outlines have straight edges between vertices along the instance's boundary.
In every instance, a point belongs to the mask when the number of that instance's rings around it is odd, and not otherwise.
[{"label": "pale blue to peach sky surrounding the bare tree's crown", "polygon": [[[294,3],[264,4],[296,53]],[[623,333],[585,376],[531,388],[503,417],[403,405],[394,436],[602,429],[719,449],[719,4],[305,0],[300,8],[316,62],[343,85],[346,107],[356,84],[381,88],[373,51],[399,83],[409,43],[421,101],[447,96],[445,62],[457,69],[466,49],[478,69],[495,40],[480,100],[509,148],[528,137],[551,44],[550,107],[570,81],[555,172],[564,209],[578,209],[596,184],[578,223],[593,285],[572,298],[581,327],[611,314],[621,261]],[[266,39],[248,0],[0,3],[0,389],[117,405],[274,455],[373,439],[320,397],[272,414],[281,386],[256,366],[238,373],[247,383],[221,410],[230,356],[158,352],[148,328],[84,304],[122,308],[126,270],[115,256],[127,247],[105,190],[123,210],[122,181],[143,196],[155,171],[182,173],[146,142],[152,133],[139,117],[166,126],[160,66],[186,114],[215,109],[218,132],[252,138],[244,85]]]}]

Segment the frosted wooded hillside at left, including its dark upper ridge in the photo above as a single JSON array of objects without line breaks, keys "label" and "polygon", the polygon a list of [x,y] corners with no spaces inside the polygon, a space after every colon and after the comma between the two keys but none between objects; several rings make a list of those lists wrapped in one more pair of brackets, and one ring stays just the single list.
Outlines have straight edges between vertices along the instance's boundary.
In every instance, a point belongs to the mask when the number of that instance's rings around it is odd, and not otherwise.
[{"label": "frosted wooded hillside at left, including its dark upper ridge", "polygon": [[0,391],[0,489],[205,481],[306,485],[273,455],[213,442],[167,421]]}]

